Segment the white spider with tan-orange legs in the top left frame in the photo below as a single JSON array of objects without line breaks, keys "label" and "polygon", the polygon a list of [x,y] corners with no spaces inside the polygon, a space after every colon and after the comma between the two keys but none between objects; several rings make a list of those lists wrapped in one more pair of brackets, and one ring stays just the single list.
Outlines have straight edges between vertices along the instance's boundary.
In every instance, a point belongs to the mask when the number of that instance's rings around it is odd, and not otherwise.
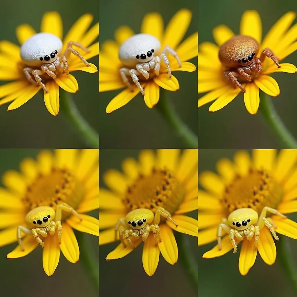
[{"label": "white spider with tan-orange legs in the top left frame", "polygon": [[[23,62],[28,66],[23,69],[26,78],[35,85],[40,85],[42,89],[48,93],[48,89],[42,82],[40,75],[47,74],[51,78],[56,79],[56,72],[69,74],[67,59],[70,53],[77,56],[86,66],[89,63],[80,55],[80,53],[72,48],[75,45],[86,52],[89,50],[80,43],[70,41],[67,44],[65,52],[62,54],[63,43],[59,37],[50,33],[37,33],[27,39],[20,48],[20,56]],[[32,78],[35,78],[35,80]]]}]

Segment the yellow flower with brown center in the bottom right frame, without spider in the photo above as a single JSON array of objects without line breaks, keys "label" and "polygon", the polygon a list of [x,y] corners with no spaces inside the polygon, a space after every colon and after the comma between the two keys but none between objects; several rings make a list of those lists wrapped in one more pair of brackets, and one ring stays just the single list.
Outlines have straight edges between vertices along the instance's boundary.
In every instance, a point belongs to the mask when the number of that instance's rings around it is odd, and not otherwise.
[{"label": "yellow flower with brown center in the bottom right frame, without spider", "polygon": [[[252,159],[247,151],[238,151],[234,162],[227,158],[217,163],[219,175],[204,171],[199,183],[205,189],[199,190],[198,199],[198,245],[217,239],[217,228],[222,218],[238,208],[249,207],[258,214],[263,207],[277,209],[282,214],[297,211],[297,150],[253,150]],[[290,219],[270,214],[277,233],[297,239],[297,223]],[[226,234],[224,232],[224,234]],[[282,240],[282,239],[280,239]],[[218,245],[206,252],[203,258],[219,257],[233,249],[229,234]],[[272,265],[276,259],[276,247],[270,230],[260,230],[258,249],[254,237],[244,238],[240,256],[239,271],[246,275],[254,265],[257,252],[263,261]]]}]

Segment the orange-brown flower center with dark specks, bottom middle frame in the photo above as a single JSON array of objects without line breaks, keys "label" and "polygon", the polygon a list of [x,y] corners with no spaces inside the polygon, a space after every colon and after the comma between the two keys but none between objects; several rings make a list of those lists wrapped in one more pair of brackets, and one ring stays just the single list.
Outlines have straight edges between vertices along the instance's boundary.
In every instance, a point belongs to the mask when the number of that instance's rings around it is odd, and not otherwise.
[{"label": "orange-brown flower center with dark specks, bottom middle frame", "polygon": [[184,186],[169,170],[154,168],[150,175],[140,174],[138,176],[135,182],[127,188],[122,201],[127,211],[148,208],[155,213],[159,207],[163,207],[170,214],[174,214],[184,200],[185,194]]}]

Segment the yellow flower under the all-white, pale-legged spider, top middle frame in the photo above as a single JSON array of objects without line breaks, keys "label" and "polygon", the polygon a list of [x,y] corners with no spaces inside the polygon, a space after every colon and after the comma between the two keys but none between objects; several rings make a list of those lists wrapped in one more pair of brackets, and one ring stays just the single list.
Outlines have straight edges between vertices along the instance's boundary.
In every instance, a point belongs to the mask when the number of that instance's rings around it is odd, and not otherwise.
[{"label": "yellow flower under the all-white, pale-legged spider, top middle frame", "polygon": [[[179,45],[189,27],[191,17],[192,13],[189,10],[179,10],[170,20],[165,31],[163,29],[163,19],[159,13],[149,13],[143,18],[140,30],[141,33],[147,33],[157,37],[161,42],[160,52],[166,45],[177,52],[182,66],[179,67],[176,59],[170,56],[168,59],[170,61],[171,71],[193,72],[197,70],[195,65],[186,61],[198,55],[198,33],[192,34]],[[126,84],[123,82],[119,73],[119,69],[123,67],[118,57],[119,47],[134,34],[135,33],[129,27],[122,26],[115,32],[116,41],[108,40],[102,44],[99,65],[99,91],[104,92],[125,88],[124,91],[109,102],[106,107],[107,113],[111,113],[126,105],[140,92],[132,82],[132,79],[131,83],[134,91],[126,88]],[[156,53],[156,55],[158,54],[159,53]],[[160,74],[158,76],[150,75],[151,78],[149,78],[149,80],[146,80],[141,75],[139,75],[138,78],[141,85],[144,87],[144,102],[147,107],[153,108],[159,101],[160,87],[168,91],[177,91],[179,84],[178,80],[173,75],[171,79],[168,77],[167,69],[163,63],[161,63]]]}]

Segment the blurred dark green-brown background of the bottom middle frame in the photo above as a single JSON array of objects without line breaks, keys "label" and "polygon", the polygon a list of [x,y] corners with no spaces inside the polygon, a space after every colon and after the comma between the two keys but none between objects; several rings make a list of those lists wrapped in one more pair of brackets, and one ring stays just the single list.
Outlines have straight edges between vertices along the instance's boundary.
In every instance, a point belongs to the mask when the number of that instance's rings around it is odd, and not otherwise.
[{"label": "blurred dark green-brown background of the bottom middle frame", "polygon": [[[100,149],[100,187],[106,188],[102,182],[102,174],[106,170],[110,168],[121,170],[121,162],[126,157],[137,159],[139,151]],[[197,211],[190,213],[190,216],[197,218]],[[197,237],[187,236],[187,238],[189,248],[197,261]],[[160,253],[157,270],[152,277],[149,277],[142,266],[143,244],[121,259],[106,261],[105,257],[118,244],[119,242],[99,246],[100,296],[197,297],[197,289],[194,289],[187,279],[179,260],[176,265],[170,265]]]}]

